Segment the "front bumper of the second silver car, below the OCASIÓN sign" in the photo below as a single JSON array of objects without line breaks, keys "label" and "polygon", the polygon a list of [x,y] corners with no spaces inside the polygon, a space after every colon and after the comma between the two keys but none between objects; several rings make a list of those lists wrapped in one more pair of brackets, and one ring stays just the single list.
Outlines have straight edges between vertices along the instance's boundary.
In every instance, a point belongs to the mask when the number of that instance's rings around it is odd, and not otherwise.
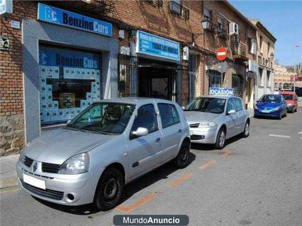
[{"label": "front bumper of the second silver car, below the OCASI\u00d3N sign", "polygon": [[[215,144],[216,142],[216,132],[218,127],[210,127],[210,128],[190,128],[190,137],[191,143],[197,144]],[[203,136],[203,139],[195,140],[197,138]]]}]

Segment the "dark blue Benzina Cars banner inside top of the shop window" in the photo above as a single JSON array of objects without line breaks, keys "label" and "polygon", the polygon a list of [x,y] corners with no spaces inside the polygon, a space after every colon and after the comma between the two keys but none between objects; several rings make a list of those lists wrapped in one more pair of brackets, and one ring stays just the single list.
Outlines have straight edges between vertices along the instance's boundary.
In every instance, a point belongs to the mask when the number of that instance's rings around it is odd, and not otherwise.
[{"label": "dark blue Benzina Cars banner inside top of the shop window", "polygon": [[39,47],[39,65],[100,69],[100,55],[53,47]]}]

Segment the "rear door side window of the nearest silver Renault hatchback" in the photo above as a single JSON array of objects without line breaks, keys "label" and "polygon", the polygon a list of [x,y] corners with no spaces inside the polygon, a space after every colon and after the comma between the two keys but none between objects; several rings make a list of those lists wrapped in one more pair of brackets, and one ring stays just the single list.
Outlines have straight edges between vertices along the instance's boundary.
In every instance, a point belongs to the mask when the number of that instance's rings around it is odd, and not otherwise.
[{"label": "rear door side window of the nearest silver Renault hatchback", "polygon": [[180,123],[178,112],[173,104],[159,103],[158,107],[163,129]]}]

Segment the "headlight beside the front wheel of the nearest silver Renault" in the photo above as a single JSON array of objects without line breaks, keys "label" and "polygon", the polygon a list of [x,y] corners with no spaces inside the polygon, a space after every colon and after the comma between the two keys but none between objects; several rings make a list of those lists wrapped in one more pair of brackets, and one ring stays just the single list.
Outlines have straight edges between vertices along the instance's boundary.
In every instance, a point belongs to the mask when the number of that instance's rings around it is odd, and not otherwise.
[{"label": "headlight beside the front wheel of the nearest silver Renault", "polygon": [[59,174],[79,174],[89,170],[90,158],[87,152],[72,156],[63,163],[59,169]]}]

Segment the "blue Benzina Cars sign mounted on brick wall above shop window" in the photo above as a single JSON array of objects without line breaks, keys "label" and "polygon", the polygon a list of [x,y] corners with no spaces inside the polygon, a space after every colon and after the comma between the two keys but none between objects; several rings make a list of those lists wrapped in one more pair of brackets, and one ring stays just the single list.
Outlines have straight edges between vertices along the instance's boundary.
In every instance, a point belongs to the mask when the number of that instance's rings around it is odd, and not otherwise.
[{"label": "blue Benzina Cars sign mounted on brick wall above shop window", "polygon": [[112,24],[110,23],[50,7],[42,3],[39,3],[38,6],[38,20],[100,35],[112,36]]}]

